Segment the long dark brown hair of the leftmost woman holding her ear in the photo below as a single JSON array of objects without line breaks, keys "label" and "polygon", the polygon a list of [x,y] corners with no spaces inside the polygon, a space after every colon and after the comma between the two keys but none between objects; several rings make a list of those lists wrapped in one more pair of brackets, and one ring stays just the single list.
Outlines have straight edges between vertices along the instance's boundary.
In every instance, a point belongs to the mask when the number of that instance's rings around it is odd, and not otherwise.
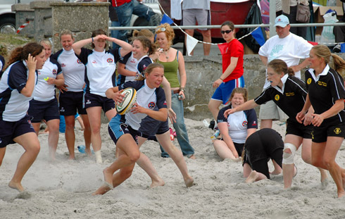
[{"label": "long dark brown hair of the leftmost woman holding her ear", "polygon": [[39,55],[40,53],[42,53],[43,49],[44,47],[40,44],[37,44],[37,42],[30,42],[28,44],[25,44],[25,46],[23,47],[17,47],[13,49],[11,56],[8,59],[6,68],[16,61],[26,60],[29,54],[31,54],[31,56],[33,57]]}]

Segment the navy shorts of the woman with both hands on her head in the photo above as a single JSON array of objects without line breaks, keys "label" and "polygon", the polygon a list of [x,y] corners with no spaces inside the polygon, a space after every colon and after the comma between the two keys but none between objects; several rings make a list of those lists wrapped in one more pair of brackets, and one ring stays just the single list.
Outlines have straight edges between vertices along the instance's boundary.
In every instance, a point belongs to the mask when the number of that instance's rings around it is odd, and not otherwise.
[{"label": "navy shorts of the woman with both hands on her head", "polygon": [[84,93],[84,108],[93,106],[101,106],[105,113],[115,108],[115,101],[113,101],[113,99],[108,99],[106,96]]}]

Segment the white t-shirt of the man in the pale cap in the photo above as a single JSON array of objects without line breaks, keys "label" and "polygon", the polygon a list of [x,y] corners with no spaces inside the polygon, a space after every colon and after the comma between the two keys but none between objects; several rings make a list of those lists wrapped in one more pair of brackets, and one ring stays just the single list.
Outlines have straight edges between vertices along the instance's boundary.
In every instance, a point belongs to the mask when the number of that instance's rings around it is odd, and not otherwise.
[{"label": "white t-shirt of the man in the pale cap", "polygon": [[[311,47],[313,47],[313,45],[308,43],[306,39],[290,32],[289,35],[284,38],[279,38],[278,35],[270,37],[270,39],[260,47],[258,54],[260,56],[267,57],[267,63],[270,63],[273,59],[279,58],[287,63],[288,67],[290,67],[299,65],[301,58],[308,58]],[[270,86],[270,82],[267,80],[267,77],[266,73],[264,88]],[[301,71],[296,72],[295,77],[301,78]]]}]

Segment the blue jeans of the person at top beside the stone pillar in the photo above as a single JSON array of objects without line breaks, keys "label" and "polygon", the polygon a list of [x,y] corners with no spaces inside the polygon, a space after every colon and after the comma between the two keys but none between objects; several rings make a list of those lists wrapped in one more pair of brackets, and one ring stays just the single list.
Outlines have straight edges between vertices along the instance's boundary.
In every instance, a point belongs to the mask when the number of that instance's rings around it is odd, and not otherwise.
[{"label": "blue jeans of the person at top beside the stone pillar", "polygon": [[[116,13],[118,13],[118,22],[121,27],[130,27],[130,19],[132,14],[138,17],[150,20],[151,16],[155,13],[152,8],[144,4],[140,4],[137,0],[132,0],[129,3],[125,3],[121,6],[115,7]],[[127,40],[127,30],[118,31],[118,39],[128,42]]]}]

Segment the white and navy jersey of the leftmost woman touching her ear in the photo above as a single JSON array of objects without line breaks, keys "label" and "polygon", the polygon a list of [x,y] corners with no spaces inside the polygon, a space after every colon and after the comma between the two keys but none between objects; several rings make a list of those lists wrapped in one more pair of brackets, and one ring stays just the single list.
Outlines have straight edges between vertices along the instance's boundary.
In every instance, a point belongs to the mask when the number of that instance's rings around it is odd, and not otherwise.
[{"label": "white and navy jersey of the leftmost woman touching her ear", "polygon": [[[29,69],[25,61],[11,64],[2,75],[0,80],[1,120],[16,122],[26,115],[32,96],[27,97],[20,92],[26,85],[28,75]],[[37,72],[35,82],[37,82]]]}]

